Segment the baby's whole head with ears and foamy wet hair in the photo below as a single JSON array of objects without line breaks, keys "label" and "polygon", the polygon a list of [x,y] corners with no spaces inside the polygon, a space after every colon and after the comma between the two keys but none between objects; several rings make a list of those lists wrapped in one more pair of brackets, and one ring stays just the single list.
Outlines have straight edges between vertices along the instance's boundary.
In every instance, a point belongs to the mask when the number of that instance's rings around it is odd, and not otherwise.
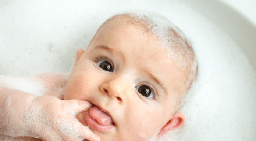
[{"label": "baby's whole head with ears and foamy wet hair", "polygon": [[77,51],[64,99],[95,105],[77,118],[102,141],[146,141],[185,120],[178,109],[196,78],[195,56],[173,24],[150,15],[116,15]]}]

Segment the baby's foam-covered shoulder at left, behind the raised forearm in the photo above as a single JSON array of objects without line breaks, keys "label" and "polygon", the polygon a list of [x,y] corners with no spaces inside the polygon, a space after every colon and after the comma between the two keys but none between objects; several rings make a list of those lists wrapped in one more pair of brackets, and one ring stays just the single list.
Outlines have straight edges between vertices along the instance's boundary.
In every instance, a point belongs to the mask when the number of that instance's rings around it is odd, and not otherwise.
[{"label": "baby's foam-covered shoulder at left, behind the raised forearm", "polygon": [[40,96],[63,89],[67,79],[67,74],[55,72],[29,76],[0,75],[0,88],[17,89]]}]

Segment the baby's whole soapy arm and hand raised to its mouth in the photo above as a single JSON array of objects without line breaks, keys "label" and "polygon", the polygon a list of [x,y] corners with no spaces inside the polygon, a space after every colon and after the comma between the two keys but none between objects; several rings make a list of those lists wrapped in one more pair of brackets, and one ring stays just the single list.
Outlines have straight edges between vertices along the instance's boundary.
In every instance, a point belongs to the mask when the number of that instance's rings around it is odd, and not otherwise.
[{"label": "baby's whole soapy arm and hand raised to its mouth", "polygon": [[[0,89],[0,134],[30,136],[42,140],[94,141],[98,136],[75,118],[87,110],[88,101],[60,100],[53,96],[35,97],[16,89]],[[27,138],[26,138],[27,140]]]}]

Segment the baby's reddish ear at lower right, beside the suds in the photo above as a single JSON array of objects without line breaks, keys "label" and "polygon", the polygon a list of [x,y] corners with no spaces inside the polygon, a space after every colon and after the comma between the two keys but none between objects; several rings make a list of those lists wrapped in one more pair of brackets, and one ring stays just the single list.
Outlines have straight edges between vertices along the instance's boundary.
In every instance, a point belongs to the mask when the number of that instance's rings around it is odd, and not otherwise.
[{"label": "baby's reddish ear at lower right, beside the suds", "polygon": [[183,125],[185,121],[185,115],[181,112],[174,114],[168,123],[161,129],[161,131],[157,134],[157,136],[160,136],[164,133],[166,133],[169,130],[175,130],[178,129]]}]

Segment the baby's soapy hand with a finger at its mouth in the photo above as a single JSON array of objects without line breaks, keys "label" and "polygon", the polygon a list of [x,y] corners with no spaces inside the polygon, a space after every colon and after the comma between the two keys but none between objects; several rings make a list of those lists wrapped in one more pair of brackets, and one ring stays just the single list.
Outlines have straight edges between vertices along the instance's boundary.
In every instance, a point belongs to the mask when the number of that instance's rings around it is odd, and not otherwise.
[{"label": "baby's soapy hand with a finger at its mouth", "polygon": [[[35,114],[38,118],[39,129],[32,130],[34,135],[45,141],[100,141],[100,137],[82,125],[75,116],[82,111],[88,110],[92,104],[83,100],[60,100],[54,96],[39,96],[36,102],[42,109]],[[32,109],[34,105],[32,105]],[[42,112],[42,113],[40,113]],[[47,116],[46,116],[47,115]],[[36,124],[35,122],[35,124]],[[42,126],[43,128],[41,128]]]}]

